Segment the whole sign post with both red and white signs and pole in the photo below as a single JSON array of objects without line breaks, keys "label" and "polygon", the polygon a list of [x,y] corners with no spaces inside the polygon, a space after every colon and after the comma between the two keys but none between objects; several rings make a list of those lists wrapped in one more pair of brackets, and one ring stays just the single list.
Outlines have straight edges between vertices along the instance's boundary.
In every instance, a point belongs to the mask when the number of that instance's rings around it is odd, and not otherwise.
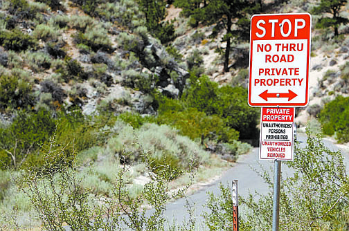
[{"label": "whole sign post with both red and white signs and pole", "polygon": [[251,18],[248,102],[263,107],[260,160],[274,160],[273,231],[279,230],[280,160],[293,160],[292,107],[309,101],[311,29],[308,13]]}]

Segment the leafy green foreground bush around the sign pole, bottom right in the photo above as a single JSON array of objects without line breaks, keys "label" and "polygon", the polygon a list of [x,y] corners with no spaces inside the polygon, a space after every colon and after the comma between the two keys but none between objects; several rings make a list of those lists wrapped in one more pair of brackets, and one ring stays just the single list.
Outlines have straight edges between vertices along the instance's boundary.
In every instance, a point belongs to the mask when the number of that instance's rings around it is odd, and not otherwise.
[{"label": "leafy green foreground bush around the sign pole, bottom right", "polygon": [[[321,133],[307,128],[307,145],[295,148],[294,161],[285,163],[294,175],[280,185],[280,230],[345,230],[348,228],[349,178],[343,155],[325,147]],[[240,197],[244,213],[239,216],[240,230],[271,230],[273,211],[272,174],[260,176],[269,185],[267,194]],[[233,230],[229,186],[222,194],[210,194],[206,224],[210,230]],[[241,214],[241,213],[240,213]]]}]

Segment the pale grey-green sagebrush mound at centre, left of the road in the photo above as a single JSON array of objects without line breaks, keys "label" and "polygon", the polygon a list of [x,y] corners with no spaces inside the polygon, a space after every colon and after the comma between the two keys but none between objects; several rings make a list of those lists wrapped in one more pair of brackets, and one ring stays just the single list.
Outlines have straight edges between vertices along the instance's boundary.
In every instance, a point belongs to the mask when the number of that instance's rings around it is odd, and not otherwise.
[{"label": "pale grey-green sagebrush mound at centre, left of the road", "polygon": [[176,130],[163,124],[144,124],[139,129],[118,120],[112,129],[116,136],[109,139],[108,147],[111,153],[120,157],[123,152],[129,161],[141,160],[141,153],[151,153],[155,168],[169,165],[172,169],[183,171],[197,167],[208,160],[208,153],[193,140],[180,136]]}]

